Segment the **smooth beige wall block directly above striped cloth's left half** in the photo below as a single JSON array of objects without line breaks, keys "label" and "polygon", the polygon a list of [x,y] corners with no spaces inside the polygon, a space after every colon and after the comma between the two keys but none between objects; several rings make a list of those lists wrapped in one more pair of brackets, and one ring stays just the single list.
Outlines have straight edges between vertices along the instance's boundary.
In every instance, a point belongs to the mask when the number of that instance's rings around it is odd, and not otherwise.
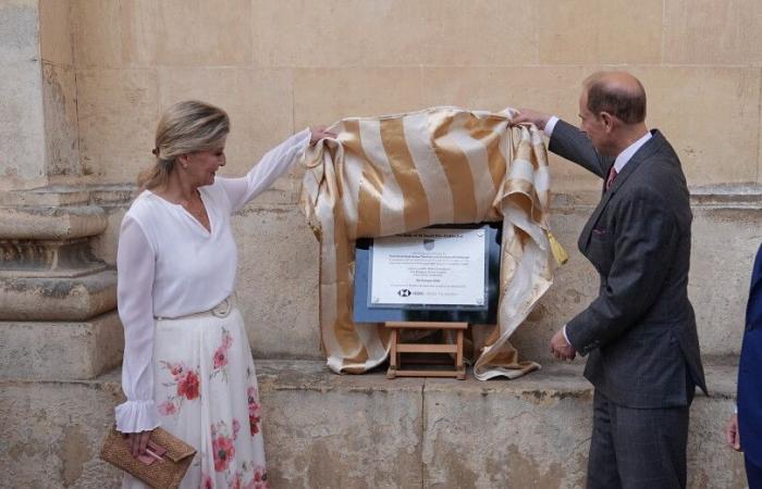
[{"label": "smooth beige wall block directly above striped cloth's left half", "polygon": [[425,109],[420,70],[294,70],[294,127]]}]

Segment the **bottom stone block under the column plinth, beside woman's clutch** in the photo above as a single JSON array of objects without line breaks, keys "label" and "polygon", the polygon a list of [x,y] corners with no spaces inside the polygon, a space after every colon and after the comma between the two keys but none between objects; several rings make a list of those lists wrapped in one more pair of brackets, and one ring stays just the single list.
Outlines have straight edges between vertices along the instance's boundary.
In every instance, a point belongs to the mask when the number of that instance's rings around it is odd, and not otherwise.
[{"label": "bottom stone block under the column plinth, beside woman's clutch", "polygon": [[122,472],[98,459],[118,372],[98,381],[0,380],[3,487],[116,489]]}]

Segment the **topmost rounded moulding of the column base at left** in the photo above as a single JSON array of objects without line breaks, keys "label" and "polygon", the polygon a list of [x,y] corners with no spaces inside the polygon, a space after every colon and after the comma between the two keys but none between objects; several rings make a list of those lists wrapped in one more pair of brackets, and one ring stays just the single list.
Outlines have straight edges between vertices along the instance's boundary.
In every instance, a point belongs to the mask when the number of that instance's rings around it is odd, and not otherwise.
[{"label": "topmost rounded moulding of the column base at left", "polygon": [[2,239],[74,239],[106,230],[106,213],[95,205],[0,206]]}]

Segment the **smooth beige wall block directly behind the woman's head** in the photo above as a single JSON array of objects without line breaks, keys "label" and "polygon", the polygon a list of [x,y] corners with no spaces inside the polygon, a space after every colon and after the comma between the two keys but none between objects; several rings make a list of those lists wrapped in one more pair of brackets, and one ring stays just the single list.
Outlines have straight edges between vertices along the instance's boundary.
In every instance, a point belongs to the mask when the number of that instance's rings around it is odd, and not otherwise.
[{"label": "smooth beige wall block directly behind the woman's head", "polygon": [[220,175],[245,175],[270,148],[292,134],[293,80],[288,70],[175,66],[159,70],[159,87],[162,110],[181,100],[197,99],[228,111],[228,164]]}]

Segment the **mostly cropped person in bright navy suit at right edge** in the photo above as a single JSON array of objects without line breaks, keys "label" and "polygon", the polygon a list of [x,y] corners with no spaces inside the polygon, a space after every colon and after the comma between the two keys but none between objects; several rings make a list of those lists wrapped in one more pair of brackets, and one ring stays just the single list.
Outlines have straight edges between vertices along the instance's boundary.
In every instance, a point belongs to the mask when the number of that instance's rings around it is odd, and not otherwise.
[{"label": "mostly cropped person in bright navy suit at right edge", "polygon": [[762,246],[751,273],[746,329],[738,365],[738,414],[727,424],[727,443],[743,449],[750,489],[762,488]]}]

